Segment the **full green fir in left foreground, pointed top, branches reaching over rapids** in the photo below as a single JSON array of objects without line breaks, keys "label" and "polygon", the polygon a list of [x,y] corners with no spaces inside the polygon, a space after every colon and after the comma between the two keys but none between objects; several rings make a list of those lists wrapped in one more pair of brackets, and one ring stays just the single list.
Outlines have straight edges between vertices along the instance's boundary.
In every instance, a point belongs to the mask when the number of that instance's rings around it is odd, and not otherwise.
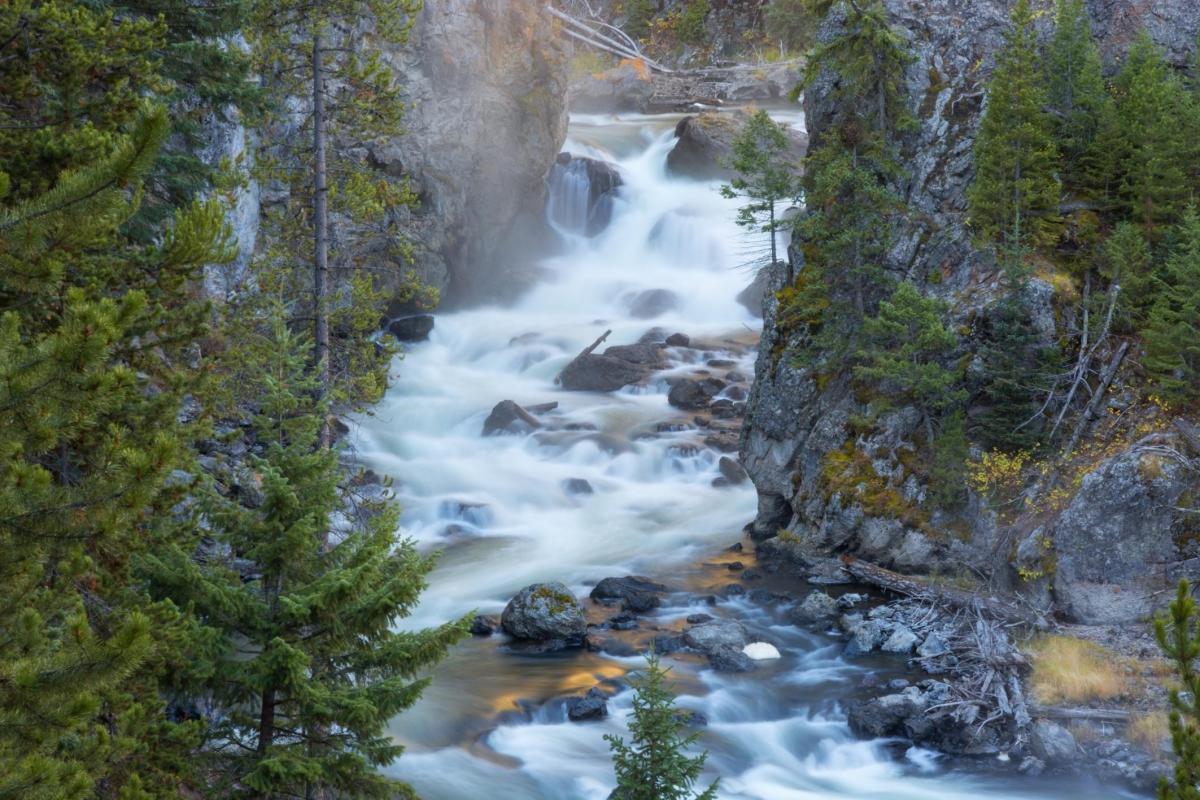
[{"label": "full green fir in left foreground, pointed top, branches reaching over rapids", "polygon": [[[209,555],[176,546],[143,560],[154,585],[193,610],[210,644],[193,666],[197,694],[226,714],[202,751],[209,794],[410,796],[378,768],[402,752],[388,721],[420,697],[420,675],[466,632],[464,621],[397,631],[432,559],[397,541],[395,507],[335,523],[347,498],[307,368],[311,343],[289,330],[278,295],[242,321],[228,356],[259,387],[251,468],[262,497],[208,497]],[[251,507],[253,506],[253,507]]]}]

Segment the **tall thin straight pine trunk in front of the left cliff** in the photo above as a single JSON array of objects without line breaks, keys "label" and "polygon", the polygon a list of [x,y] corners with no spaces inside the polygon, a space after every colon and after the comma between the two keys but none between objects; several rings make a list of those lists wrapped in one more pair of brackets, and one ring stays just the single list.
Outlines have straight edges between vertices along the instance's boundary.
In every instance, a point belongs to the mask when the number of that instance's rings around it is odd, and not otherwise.
[{"label": "tall thin straight pine trunk in front of the left cliff", "polygon": [[[313,361],[318,392],[329,398],[329,187],[325,175],[325,73],[320,34],[312,37],[312,150],[313,150]],[[320,425],[320,445],[332,444],[328,414]]]}]

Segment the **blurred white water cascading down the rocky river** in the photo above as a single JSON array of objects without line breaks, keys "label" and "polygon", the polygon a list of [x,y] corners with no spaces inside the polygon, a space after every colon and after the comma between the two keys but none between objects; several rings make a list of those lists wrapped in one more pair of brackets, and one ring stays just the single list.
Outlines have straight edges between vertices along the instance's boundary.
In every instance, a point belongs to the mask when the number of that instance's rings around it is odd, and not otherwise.
[{"label": "blurred white water cascading down the rocky river", "polygon": [[[782,119],[798,122],[796,114]],[[404,533],[444,549],[406,625],[497,613],[517,589],[541,581],[562,581],[581,596],[610,575],[656,576],[691,591],[728,582],[718,561],[752,518],[754,489],[713,487],[719,453],[697,447],[695,431],[660,432],[660,422],[688,419],[667,405],[666,383],[611,395],[553,384],[608,329],[608,345],[636,342],[652,326],[704,342],[702,353],[670,350],[680,373],[731,354],[738,371],[752,369],[746,345],[758,323],[734,300],[749,282],[742,265],[752,247],[715,185],[666,175],[674,122],[572,120],[568,150],[620,167],[610,227],[594,239],[571,235],[586,224],[588,187],[578,168],[560,175],[548,211],[568,240],[565,254],[544,264],[544,279],[512,307],[440,315],[431,341],[410,348],[386,399],[362,420],[356,445],[367,464],[396,479]],[[678,305],[631,319],[631,300],[653,289],[677,293]],[[554,429],[482,438],[484,419],[502,399],[558,402],[544,417]],[[587,480],[594,493],[568,494],[569,479]],[[690,602],[700,601],[673,595],[652,624],[680,627],[700,610]],[[844,661],[835,640],[785,624],[769,603],[733,599],[703,610],[746,622],[782,652],[744,675],[668,660],[680,705],[709,720],[702,741],[724,800],[1122,796],[948,770],[932,753],[898,758],[888,742],[857,741],[840,702],[868,667]],[[570,723],[562,703],[547,700],[638,663],[592,652],[521,655],[500,637],[467,642],[395,722],[408,752],[390,772],[425,800],[604,800],[614,781],[602,735],[624,733],[630,692],[610,702],[602,722]]]}]

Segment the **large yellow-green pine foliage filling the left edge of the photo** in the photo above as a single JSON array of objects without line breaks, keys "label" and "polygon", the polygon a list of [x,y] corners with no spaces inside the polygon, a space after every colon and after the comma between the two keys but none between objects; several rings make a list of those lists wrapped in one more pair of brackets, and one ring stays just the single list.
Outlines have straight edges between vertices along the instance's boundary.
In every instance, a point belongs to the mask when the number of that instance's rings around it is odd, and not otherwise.
[{"label": "large yellow-green pine foliage filling the left edge of the photo", "polygon": [[212,205],[122,246],[167,128],[148,113],[53,190],[0,192],[0,798],[178,794],[162,770],[188,741],[155,675],[180,620],[128,565],[170,535],[204,311],[187,287],[229,252]]}]

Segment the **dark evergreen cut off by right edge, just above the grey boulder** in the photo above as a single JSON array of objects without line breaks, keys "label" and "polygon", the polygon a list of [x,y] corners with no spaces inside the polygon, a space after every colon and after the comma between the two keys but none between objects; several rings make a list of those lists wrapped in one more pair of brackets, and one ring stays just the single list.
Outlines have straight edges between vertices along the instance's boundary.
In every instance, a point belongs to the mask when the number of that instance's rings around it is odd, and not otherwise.
[{"label": "dark evergreen cut off by right edge, just above the grey boulder", "polygon": [[1183,213],[1157,283],[1142,338],[1145,367],[1164,397],[1188,403],[1200,397],[1200,213]]}]

